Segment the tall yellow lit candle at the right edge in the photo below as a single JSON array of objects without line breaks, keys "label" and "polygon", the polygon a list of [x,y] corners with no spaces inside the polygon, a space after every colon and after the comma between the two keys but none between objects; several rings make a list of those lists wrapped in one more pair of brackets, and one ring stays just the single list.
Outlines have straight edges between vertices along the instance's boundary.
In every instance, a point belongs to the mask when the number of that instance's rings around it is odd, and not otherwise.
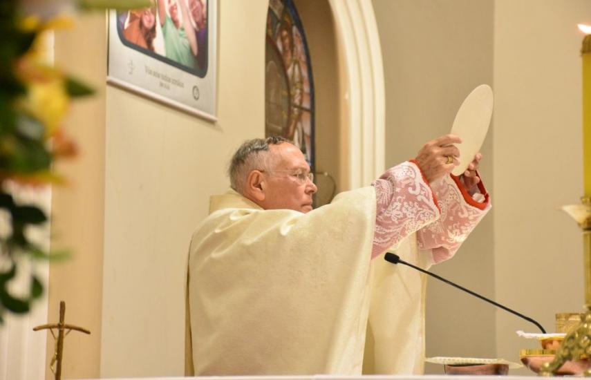
[{"label": "tall yellow lit candle at the right edge", "polygon": [[591,26],[579,24],[585,33],[583,57],[583,178],[585,198],[591,198]]}]

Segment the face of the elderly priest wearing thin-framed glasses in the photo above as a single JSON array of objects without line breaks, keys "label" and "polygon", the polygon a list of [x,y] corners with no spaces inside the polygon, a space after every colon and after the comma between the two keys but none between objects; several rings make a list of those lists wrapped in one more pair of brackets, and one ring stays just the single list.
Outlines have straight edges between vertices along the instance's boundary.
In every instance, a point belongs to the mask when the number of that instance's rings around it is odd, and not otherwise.
[{"label": "face of the elderly priest wearing thin-framed glasses", "polygon": [[308,177],[310,166],[303,154],[292,144],[282,142],[271,145],[269,166],[263,172],[263,209],[290,209],[307,213],[312,211],[312,194],[317,187]]}]

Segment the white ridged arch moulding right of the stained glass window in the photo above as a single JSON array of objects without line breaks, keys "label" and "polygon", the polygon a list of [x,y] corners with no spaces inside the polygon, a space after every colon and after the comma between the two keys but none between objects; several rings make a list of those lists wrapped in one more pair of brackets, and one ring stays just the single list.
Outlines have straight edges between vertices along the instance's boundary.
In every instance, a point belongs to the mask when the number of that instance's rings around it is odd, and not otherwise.
[{"label": "white ridged arch moulding right of the stained glass window", "polygon": [[384,70],[373,6],[329,0],[346,64],[348,188],[367,186],[384,171]]}]

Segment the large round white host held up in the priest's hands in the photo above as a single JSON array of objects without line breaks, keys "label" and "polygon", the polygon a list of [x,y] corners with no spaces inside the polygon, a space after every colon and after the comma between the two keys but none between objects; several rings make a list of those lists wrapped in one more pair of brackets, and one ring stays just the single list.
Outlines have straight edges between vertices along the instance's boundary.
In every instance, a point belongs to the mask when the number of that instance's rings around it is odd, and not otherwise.
[{"label": "large round white host held up in the priest's hands", "polygon": [[492,110],[493,92],[488,84],[474,88],[458,109],[451,126],[451,134],[459,136],[462,144],[457,145],[460,149],[460,164],[451,172],[453,175],[464,173],[476,153],[480,151],[482,142],[487,137]]}]

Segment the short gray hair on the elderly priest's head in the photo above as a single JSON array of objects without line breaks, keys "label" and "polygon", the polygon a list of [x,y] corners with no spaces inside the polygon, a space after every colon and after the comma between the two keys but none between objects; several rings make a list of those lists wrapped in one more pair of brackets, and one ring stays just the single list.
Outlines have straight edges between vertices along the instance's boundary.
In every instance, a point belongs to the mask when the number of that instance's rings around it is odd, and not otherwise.
[{"label": "short gray hair on the elderly priest's head", "polygon": [[243,194],[244,185],[248,174],[256,169],[268,169],[270,157],[262,152],[268,152],[270,145],[278,145],[289,140],[279,136],[271,136],[266,139],[252,139],[243,142],[232,156],[228,167],[230,187]]}]

